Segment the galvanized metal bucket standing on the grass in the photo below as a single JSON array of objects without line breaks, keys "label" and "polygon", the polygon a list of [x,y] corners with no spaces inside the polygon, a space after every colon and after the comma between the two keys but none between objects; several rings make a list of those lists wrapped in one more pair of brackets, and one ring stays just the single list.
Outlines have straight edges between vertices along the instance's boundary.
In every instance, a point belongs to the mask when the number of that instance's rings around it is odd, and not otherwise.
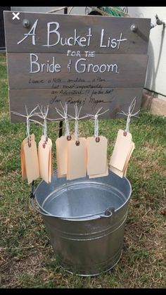
[{"label": "galvanized metal bucket standing on the grass", "polygon": [[58,263],[68,272],[91,276],[120,260],[132,187],[113,172],[106,177],[42,181],[34,192]]}]

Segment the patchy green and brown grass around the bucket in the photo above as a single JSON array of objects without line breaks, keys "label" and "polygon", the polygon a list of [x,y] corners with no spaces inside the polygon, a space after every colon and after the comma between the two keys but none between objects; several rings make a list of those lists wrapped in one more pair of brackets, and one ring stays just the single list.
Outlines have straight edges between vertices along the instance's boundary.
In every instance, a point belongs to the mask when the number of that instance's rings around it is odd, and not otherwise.
[{"label": "patchy green and brown grass around the bucket", "polygon": [[[132,119],[136,148],[127,170],[132,197],[122,258],[113,270],[98,277],[79,277],[56,262],[44,223],[30,206],[30,186],[21,179],[20,144],[26,127],[9,120],[5,54],[0,54],[0,112],[1,288],[165,288],[166,118],[141,110],[140,118]],[[38,141],[41,129],[31,126]],[[123,119],[100,120],[100,133],[108,137],[108,158],[117,130],[124,127]],[[55,168],[58,123],[49,123],[48,130]],[[79,130],[87,136],[93,125],[81,122]]]}]

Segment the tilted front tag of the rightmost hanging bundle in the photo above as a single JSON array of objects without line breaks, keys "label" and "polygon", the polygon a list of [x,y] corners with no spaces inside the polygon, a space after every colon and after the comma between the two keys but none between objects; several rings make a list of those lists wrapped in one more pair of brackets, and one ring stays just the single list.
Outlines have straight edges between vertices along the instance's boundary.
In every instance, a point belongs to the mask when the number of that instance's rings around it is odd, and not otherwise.
[{"label": "tilted front tag of the rightmost hanging bundle", "polygon": [[119,130],[117,132],[117,139],[113,149],[113,154],[110,157],[110,166],[122,171],[127,160],[129,151],[131,150],[132,144],[132,134],[127,132],[124,135],[124,130]]}]

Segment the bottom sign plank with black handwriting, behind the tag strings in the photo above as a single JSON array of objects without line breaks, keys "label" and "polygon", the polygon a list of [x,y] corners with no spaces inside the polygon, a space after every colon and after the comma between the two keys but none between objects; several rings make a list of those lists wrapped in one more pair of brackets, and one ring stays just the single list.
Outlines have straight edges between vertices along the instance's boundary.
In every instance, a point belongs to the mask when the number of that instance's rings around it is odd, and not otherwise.
[{"label": "bottom sign plank with black handwriting, behind the tag strings", "polygon": [[[129,104],[136,96],[136,108],[141,106],[142,88],[101,88],[101,89],[11,89],[10,110],[25,115],[25,105],[29,111],[37,106],[49,106],[49,118],[59,118],[55,108],[60,108],[60,101],[68,103],[68,113],[74,115],[73,104],[82,106],[81,116],[95,114],[98,108],[109,111],[102,118],[119,118],[121,109],[128,111]],[[39,120],[39,118],[37,119]],[[25,122],[25,118],[11,113],[11,123]]]}]

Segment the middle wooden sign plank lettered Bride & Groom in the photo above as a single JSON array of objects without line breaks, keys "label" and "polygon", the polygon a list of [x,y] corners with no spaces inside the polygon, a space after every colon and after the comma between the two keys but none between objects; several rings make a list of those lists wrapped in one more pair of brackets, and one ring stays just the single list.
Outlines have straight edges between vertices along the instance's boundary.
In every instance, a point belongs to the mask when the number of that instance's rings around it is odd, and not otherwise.
[{"label": "middle wooden sign plank lettered Bride & Groom", "polygon": [[10,89],[143,87],[148,59],[145,54],[96,54],[93,58],[39,53],[7,56]]}]

